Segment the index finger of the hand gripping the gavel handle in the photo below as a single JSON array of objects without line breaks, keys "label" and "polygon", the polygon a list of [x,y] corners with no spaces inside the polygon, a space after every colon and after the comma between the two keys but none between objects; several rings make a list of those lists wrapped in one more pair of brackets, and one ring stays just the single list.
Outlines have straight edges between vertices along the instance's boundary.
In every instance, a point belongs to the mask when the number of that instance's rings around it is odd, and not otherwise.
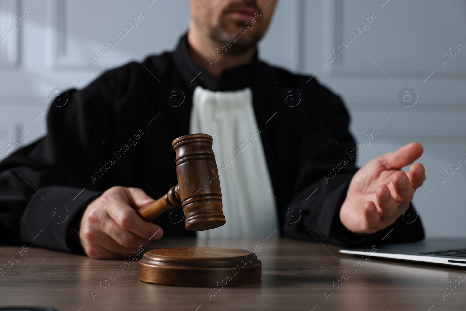
[{"label": "index finger of the hand gripping the gavel handle", "polygon": [[[114,201],[112,205],[107,207],[107,213],[120,228],[147,240],[160,239],[164,234],[164,231],[159,226],[144,221],[136,214],[136,211],[125,202]],[[155,234],[156,232],[157,234]]]}]

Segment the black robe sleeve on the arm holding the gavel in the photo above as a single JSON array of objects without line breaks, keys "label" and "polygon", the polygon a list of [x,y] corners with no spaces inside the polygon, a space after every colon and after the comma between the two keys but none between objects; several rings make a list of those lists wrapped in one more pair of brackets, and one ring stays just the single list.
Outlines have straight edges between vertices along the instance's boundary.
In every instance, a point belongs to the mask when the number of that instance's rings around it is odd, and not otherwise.
[{"label": "black robe sleeve on the arm holding the gavel", "polygon": [[109,159],[121,84],[107,73],[81,91],[68,90],[66,104],[50,106],[48,134],[0,162],[0,244],[82,252],[71,232],[105,190],[105,176],[95,182],[91,175]]}]

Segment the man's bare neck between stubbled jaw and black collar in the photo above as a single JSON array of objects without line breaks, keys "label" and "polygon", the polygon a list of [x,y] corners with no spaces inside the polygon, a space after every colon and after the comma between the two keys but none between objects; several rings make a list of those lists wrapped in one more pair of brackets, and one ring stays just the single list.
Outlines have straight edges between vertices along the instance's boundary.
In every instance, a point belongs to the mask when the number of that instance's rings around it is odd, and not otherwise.
[{"label": "man's bare neck between stubbled jaw and black collar", "polygon": [[229,51],[225,47],[225,43],[219,44],[213,41],[205,34],[200,33],[192,24],[190,24],[188,30],[187,40],[188,53],[192,61],[201,68],[206,69],[217,79],[220,78],[223,70],[251,62],[251,56],[256,52],[256,46],[254,46],[244,53],[228,53]]}]

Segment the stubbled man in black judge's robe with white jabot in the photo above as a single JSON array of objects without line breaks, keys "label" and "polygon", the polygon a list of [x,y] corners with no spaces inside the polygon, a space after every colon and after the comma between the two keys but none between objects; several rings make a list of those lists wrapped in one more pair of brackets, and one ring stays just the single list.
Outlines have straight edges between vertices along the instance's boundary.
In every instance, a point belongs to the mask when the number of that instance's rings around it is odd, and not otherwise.
[{"label": "stubbled man in black judge's robe with white jabot", "polygon": [[[412,164],[422,146],[358,170],[362,146],[340,97],[259,58],[276,2],[190,0],[189,29],[173,52],[57,97],[47,135],[0,163],[1,242],[116,258],[162,235],[347,246],[422,239],[410,203],[425,180]],[[218,173],[206,178],[220,179],[226,216],[198,233],[185,231],[176,208],[154,223],[135,212],[177,184],[171,141],[190,133],[213,137]]]}]

